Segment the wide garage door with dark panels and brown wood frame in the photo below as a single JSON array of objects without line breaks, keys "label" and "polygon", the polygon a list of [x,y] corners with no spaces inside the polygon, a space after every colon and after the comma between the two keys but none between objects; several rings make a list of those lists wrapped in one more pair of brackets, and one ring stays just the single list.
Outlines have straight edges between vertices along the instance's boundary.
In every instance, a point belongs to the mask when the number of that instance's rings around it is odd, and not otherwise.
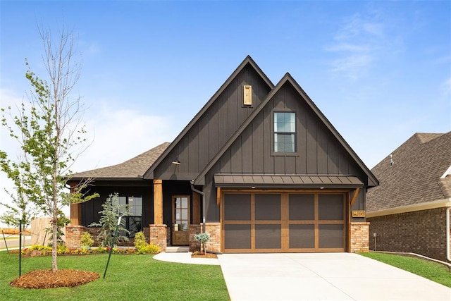
[{"label": "wide garage door with dark panels and brown wood frame", "polygon": [[226,192],[223,252],[344,252],[345,196]]}]

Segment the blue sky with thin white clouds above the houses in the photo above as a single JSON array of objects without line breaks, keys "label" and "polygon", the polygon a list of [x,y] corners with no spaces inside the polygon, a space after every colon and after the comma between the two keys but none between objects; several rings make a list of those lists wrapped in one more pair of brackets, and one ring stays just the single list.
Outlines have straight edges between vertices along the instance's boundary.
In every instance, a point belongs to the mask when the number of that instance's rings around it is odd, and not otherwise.
[{"label": "blue sky with thin white clouds above the houses", "polygon": [[46,76],[37,25],[73,30],[92,139],[75,171],[173,140],[248,54],[275,84],[289,72],[369,168],[451,130],[451,1],[2,0],[0,20],[2,107],[30,90],[25,57]]}]

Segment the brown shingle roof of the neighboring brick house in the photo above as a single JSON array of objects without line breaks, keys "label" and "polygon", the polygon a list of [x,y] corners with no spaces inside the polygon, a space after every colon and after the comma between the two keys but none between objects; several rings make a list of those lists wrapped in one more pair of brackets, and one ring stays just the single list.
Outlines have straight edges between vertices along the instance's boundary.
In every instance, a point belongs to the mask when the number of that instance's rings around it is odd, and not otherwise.
[{"label": "brown shingle roof of the neighboring brick house", "polygon": [[366,194],[369,212],[451,197],[451,132],[416,133],[371,171],[380,185]]}]

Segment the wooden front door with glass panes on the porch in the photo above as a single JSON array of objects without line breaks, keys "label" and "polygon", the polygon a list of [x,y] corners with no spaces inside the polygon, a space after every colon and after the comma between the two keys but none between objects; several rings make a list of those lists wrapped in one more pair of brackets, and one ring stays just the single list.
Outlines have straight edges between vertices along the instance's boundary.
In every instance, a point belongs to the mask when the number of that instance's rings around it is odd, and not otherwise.
[{"label": "wooden front door with glass panes on the porch", "polygon": [[172,245],[189,245],[190,197],[176,195],[172,199]]}]

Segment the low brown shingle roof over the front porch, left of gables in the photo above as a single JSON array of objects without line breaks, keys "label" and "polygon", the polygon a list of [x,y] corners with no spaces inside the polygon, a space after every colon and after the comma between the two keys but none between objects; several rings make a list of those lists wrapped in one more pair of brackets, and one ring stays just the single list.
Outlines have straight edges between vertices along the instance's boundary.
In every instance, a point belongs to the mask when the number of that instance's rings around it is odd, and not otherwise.
[{"label": "low brown shingle roof over the front porch, left of gables", "polygon": [[151,166],[156,159],[164,152],[169,146],[169,142],[164,142],[161,145],[149,149],[147,152],[143,152],[130,160],[127,160],[121,164],[107,166],[103,168],[93,169],[91,171],[82,171],[81,173],[75,173],[71,177],[73,180],[80,180],[82,178],[142,178],[147,168]]}]

